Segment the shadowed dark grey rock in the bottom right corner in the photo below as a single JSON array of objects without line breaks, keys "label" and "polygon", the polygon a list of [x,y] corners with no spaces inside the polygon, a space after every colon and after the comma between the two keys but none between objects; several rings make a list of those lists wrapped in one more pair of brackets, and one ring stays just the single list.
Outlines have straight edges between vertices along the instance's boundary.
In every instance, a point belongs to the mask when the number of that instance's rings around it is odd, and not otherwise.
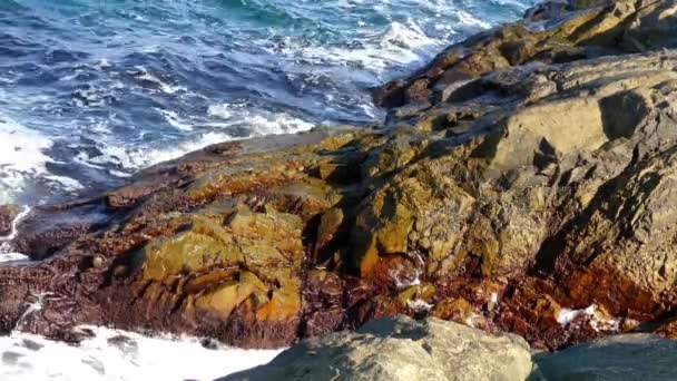
[{"label": "shadowed dark grey rock in the bottom right corner", "polygon": [[[610,336],[533,356],[532,380],[670,380],[677,342],[650,334]],[[540,373],[540,374],[539,374]]]}]

